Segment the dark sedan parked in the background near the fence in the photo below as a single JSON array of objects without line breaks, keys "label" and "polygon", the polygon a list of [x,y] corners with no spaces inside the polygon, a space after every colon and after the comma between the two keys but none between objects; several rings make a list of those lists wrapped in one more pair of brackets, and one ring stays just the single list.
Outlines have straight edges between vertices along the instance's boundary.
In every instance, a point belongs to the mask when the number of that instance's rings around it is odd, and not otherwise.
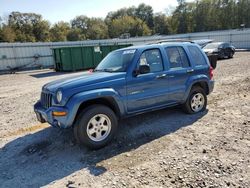
[{"label": "dark sedan parked in the background near the fence", "polygon": [[203,47],[206,54],[215,54],[219,59],[232,58],[235,47],[227,42],[212,42]]}]

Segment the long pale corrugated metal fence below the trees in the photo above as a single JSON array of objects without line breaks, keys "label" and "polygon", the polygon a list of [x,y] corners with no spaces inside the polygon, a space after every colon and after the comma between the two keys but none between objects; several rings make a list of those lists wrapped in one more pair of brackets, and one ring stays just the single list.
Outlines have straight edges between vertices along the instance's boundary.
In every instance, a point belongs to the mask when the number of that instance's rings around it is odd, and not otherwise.
[{"label": "long pale corrugated metal fence below the trees", "polygon": [[86,40],[76,42],[45,43],[0,43],[0,70],[28,67],[51,67],[54,65],[52,48],[64,46],[98,46],[112,44],[151,43],[167,39],[212,39],[230,42],[238,49],[250,49],[250,28],[200,33],[176,34],[167,36],[135,37],[130,39]]}]

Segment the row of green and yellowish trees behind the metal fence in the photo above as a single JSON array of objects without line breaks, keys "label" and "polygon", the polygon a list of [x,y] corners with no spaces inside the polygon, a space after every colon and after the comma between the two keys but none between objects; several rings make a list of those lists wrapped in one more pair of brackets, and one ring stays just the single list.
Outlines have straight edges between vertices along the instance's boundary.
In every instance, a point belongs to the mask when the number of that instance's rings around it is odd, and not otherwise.
[{"label": "row of green and yellowish trees behind the metal fence", "polygon": [[56,42],[168,35],[250,27],[249,0],[177,0],[171,15],[146,4],[109,12],[105,19],[84,15],[51,25],[35,13],[0,18],[0,42]]}]

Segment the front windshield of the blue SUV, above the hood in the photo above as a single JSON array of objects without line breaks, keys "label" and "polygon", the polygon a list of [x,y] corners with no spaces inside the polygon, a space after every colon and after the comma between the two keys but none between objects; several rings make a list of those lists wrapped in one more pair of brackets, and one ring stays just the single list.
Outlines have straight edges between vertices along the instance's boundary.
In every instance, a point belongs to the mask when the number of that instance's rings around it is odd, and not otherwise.
[{"label": "front windshield of the blue SUV, above the hood", "polygon": [[108,54],[96,67],[95,71],[125,72],[136,50],[121,50]]}]

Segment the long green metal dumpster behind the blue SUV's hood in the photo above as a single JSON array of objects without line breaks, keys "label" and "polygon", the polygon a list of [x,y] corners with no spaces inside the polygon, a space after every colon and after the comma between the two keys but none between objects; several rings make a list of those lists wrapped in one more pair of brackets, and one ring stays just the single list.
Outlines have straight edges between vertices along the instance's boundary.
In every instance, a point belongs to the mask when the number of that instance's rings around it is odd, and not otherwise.
[{"label": "long green metal dumpster behind the blue SUV's hood", "polygon": [[95,68],[113,50],[131,46],[96,45],[53,48],[56,71],[78,71]]}]

